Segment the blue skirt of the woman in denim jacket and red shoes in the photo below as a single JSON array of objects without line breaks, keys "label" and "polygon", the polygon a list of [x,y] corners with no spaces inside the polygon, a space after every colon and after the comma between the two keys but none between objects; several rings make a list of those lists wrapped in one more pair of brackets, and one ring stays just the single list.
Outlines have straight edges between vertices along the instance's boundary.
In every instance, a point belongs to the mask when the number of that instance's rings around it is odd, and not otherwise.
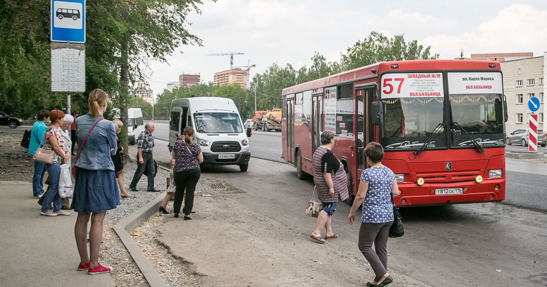
[{"label": "blue skirt of the woman in denim jacket and red shoes", "polygon": [[79,168],[71,208],[78,213],[103,212],[120,204],[114,171]]}]

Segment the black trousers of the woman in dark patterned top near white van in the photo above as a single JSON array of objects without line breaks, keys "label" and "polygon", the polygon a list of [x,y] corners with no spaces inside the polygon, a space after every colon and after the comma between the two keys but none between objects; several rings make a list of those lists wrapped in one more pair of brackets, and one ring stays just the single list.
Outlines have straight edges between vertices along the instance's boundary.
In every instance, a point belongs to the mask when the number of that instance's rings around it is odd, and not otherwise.
[{"label": "black trousers of the woman in dark patterned top near white van", "polygon": [[182,212],[184,215],[189,215],[194,207],[194,191],[196,190],[197,181],[200,179],[201,170],[188,169],[182,172],[173,173],[174,183],[177,186],[174,192],[173,213],[181,213],[182,198],[184,192],[186,192],[186,198],[184,200],[184,208]]}]

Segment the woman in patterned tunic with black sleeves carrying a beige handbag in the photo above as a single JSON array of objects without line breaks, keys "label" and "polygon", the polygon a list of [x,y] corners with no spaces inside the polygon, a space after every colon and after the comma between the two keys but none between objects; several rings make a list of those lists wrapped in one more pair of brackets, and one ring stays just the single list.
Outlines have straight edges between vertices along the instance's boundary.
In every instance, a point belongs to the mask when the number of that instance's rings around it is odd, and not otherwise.
[{"label": "woman in patterned tunic with black sleeves carrying a beige handbag", "polygon": [[324,131],[321,134],[321,147],[313,153],[313,183],[317,189],[317,198],[323,203],[322,210],[317,216],[315,230],[310,238],[324,243],[321,230],[325,227],[325,239],[338,237],[333,233],[331,216],[336,210],[338,200],[347,200],[350,197],[347,191],[347,175],[344,165],[333,154],[334,133]]}]

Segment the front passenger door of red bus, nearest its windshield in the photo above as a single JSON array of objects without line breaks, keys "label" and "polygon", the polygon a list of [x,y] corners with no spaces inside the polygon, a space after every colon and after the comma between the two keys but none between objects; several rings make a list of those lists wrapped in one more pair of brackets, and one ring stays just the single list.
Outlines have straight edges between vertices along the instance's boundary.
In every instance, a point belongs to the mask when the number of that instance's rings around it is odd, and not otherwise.
[{"label": "front passenger door of red bus, nearest its windshield", "polygon": [[357,105],[357,183],[359,182],[361,173],[364,171],[365,168],[369,167],[368,163],[366,163],[365,147],[369,142],[373,140],[374,135],[374,127],[371,125],[370,122],[370,103],[373,101],[374,98],[375,87],[375,84],[365,85],[364,87],[356,87],[355,91]]}]

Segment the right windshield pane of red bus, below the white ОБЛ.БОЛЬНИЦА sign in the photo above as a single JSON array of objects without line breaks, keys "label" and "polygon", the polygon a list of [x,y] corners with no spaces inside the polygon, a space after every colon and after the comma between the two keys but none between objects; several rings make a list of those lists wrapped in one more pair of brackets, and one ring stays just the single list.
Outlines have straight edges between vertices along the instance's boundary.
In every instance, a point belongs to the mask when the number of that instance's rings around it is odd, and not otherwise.
[{"label": "right windshield pane of red bus, below the white \u041e\u0411\u041b.\u0411\u041e\u041b\u042c\u041d\u0418\u0426\u0410 sign", "polygon": [[450,95],[450,107],[454,147],[504,144],[501,94]]}]

